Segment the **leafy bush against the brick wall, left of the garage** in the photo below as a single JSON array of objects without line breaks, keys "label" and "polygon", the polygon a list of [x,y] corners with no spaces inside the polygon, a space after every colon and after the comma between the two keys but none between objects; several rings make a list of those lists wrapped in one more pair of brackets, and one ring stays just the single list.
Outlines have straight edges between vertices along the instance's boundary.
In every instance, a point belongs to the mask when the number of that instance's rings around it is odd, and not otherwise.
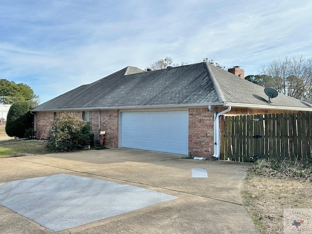
[{"label": "leafy bush against the brick wall, left of the garage", "polygon": [[74,151],[90,145],[91,127],[73,113],[62,113],[52,122],[47,150]]}]

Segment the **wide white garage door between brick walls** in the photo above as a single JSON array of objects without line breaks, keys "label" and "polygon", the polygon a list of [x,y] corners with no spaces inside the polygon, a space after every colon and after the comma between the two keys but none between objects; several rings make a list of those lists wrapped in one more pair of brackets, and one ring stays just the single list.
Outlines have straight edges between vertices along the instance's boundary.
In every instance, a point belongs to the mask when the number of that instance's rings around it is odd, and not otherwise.
[{"label": "wide white garage door between brick walls", "polygon": [[188,155],[188,111],[122,112],[121,147]]}]

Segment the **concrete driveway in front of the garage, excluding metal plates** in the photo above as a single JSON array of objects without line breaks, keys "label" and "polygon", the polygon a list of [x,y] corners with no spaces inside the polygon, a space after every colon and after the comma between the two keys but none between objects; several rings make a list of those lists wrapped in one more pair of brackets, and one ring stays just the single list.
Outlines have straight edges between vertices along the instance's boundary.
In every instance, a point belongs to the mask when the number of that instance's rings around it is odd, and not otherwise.
[{"label": "concrete driveway in front of the garage, excluding metal plates", "polygon": [[[119,148],[0,158],[0,183],[67,174],[178,197],[59,234],[258,234],[240,196],[248,167]],[[192,168],[205,168],[208,178],[191,177]],[[1,234],[52,233],[3,206],[0,217]]]}]

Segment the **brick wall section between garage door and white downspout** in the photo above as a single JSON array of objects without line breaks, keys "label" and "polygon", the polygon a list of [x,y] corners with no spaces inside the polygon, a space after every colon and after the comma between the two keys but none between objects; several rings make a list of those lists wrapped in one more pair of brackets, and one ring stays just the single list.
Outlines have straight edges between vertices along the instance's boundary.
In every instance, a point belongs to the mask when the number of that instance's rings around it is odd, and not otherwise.
[{"label": "brick wall section between garage door and white downspout", "polygon": [[214,113],[208,108],[189,109],[189,154],[193,157],[214,155]]}]

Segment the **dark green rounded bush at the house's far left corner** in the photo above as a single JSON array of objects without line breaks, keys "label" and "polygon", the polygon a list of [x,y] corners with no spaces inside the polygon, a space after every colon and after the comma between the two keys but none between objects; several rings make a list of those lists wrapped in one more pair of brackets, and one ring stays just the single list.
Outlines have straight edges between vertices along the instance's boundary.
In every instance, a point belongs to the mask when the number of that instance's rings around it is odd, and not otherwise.
[{"label": "dark green rounded bush at the house's far left corner", "polygon": [[10,137],[22,138],[29,128],[33,128],[33,115],[29,112],[32,105],[29,101],[17,101],[9,109],[5,132]]}]

